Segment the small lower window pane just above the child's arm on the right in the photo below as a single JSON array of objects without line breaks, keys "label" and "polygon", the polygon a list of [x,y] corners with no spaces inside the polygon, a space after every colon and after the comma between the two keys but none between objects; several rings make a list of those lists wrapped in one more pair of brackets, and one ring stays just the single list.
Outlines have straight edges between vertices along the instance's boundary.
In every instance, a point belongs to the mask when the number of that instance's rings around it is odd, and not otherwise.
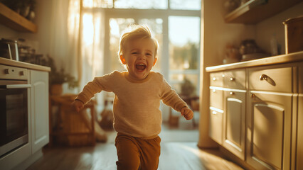
[{"label": "small lower window pane just above the child's arm on the right", "polygon": [[170,74],[170,84],[177,94],[196,96],[198,88],[198,74]]}]

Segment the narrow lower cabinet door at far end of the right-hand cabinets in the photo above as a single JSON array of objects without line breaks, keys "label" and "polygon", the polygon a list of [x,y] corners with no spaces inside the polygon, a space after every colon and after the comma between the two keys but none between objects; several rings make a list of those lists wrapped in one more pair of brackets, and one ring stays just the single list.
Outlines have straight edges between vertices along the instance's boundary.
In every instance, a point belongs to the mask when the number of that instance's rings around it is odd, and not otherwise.
[{"label": "narrow lower cabinet door at far end of the right-hand cabinets", "polygon": [[209,136],[222,145],[223,111],[213,107],[209,111]]}]

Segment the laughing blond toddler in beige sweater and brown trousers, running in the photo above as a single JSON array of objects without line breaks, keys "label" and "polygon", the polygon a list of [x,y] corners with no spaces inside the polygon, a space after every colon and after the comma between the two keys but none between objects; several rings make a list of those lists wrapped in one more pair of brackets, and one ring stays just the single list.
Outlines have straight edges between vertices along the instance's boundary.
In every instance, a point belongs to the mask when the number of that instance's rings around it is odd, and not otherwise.
[{"label": "laughing blond toddler in beige sweater and brown trousers, running", "polygon": [[115,94],[113,105],[117,169],[157,169],[160,156],[160,101],[181,112],[187,120],[193,111],[171,89],[162,74],[151,72],[157,60],[158,42],[147,26],[132,26],[120,38],[119,60],[127,72],[95,77],[72,106],[80,111],[100,91]]}]

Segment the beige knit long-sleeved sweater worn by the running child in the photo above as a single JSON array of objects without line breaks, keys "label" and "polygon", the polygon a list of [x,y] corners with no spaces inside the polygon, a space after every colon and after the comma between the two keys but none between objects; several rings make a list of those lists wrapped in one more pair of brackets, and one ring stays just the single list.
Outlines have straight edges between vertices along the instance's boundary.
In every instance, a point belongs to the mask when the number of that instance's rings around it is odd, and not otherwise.
[{"label": "beige knit long-sleeved sweater worn by the running child", "polygon": [[159,72],[150,72],[144,80],[127,77],[128,72],[112,72],[90,81],[77,99],[87,103],[97,92],[114,92],[114,128],[134,137],[153,137],[161,131],[160,101],[176,111],[187,107]]}]

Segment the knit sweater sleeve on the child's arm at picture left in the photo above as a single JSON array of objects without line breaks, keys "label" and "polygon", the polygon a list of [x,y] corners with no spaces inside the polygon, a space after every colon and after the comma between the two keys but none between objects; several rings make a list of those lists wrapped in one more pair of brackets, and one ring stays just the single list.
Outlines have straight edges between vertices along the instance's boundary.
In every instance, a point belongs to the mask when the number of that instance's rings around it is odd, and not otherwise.
[{"label": "knit sweater sleeve on the child's arm at picture left", "polygon": [[95,94],[100,93],[102,90],[109,92],[112,91],[110,84],[112,77],[113,73],[102,77],[95,77],[93,81],[88,82],[84,86],[83,91],[81,91],[75,99],[86,104],[88,101],[90,101],[90,98],[95,96]]}]

